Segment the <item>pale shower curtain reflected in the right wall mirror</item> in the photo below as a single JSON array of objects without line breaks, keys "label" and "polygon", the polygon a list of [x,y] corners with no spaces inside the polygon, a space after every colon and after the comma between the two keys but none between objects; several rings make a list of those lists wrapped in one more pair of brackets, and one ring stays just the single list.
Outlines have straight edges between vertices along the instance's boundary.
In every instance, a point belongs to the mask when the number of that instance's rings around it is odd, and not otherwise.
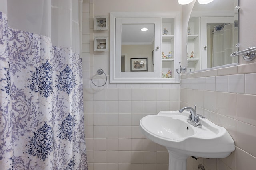
[{"label": "pale shower curtain reflected in the right wall mirror", "polygon": [[230,54],[235,51],[234,44],[238,42],[234,35],[237,35],[237,27],[234,27],[234,23],[224,25],[221,30],[214,31],[212,67],[234,63],[233,58],[230,57]]}]

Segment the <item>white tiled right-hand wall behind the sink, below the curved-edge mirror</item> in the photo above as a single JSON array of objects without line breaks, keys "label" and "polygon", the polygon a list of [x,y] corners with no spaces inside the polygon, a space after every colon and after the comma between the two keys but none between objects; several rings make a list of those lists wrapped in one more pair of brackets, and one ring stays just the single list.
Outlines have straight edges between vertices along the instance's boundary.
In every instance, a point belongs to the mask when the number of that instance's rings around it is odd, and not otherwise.
[{"label": "white tiled right-hand wall behind the sink, below the curved-edge mirror", "polygon": [[[210,121],[225,127],[234,139],[236,150],[227,158],[202,159],[205,168],[211,170],[242,170],[256,167],[256,76],[246,67],[252,64],[222,68],[205,72],[198,78],[198,84],[206,84],[206,88],[198,90],[193,87],[193,74],[182,76],[181,107],[197,105],[197,112]],[[236,70],[246,70],[237,74]],[[230,75],[224,75],[231,73]],[[192,81],[191,81],[192,80]],[[204,86],[204,85],[203,85]],[[203,90],[204,89],[204,90]],[[196,170],[196,160],[188,160],[187,170]]]}]

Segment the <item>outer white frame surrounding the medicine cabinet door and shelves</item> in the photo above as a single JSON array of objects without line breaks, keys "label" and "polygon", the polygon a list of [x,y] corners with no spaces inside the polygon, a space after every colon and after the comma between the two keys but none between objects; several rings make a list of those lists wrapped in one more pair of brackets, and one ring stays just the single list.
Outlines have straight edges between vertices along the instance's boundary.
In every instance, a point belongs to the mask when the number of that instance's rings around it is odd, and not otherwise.
[{"label": "outer white frame surrounding the medicine cabinet door and shelves", "polygon": [[[180,12],[111,12],[110,13],[110,83],[179,83],[180,76],[176,73],[176,68],[179,68],[179,61],[181,60],[181,16]],[[175,59],[174,59],[174,70],[172,70],[172,74],[174,78],[147,78],[147,77],[137,77],[132,78],[117,78],[116,75],[120,73],[116,73],[117,69],[115,68],[117,57],[116,57],[116,18],[175,18]],[[161,23],[160,23],[161,24]],[[162,26],[162,25],[161,25]],[[159,33],[160,39],[161,33]],[[155,43],[156,46],[159,46]],[[161,49],[161,48],[160,48]],[[160,51],[160,50],[158,50]],[[160,55],[159,55],[160,56]],[[156,59],[156,56],[155,56]],[[119,60],[118,60],[119,61]],[[160,62],[160,68],[157,67],[157,63]],[[155,60],[155,70],[158,69],[157,74],[160,77],[162,62]],[[118,69],[120,72],[120,69]],[[131,73],[131,72],[129,72]],[[125,74],[129,74],[125,73]],[[154,72],[149,72],[149,74],[154,74]],[[134,73],[132,73],[134,74]]]}]

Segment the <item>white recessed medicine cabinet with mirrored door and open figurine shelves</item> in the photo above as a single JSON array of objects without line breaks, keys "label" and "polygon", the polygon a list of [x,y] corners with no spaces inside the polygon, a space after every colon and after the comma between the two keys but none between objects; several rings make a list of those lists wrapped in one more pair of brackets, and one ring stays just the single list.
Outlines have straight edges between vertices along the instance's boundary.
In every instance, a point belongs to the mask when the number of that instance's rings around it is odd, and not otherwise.
[{"label": "white recessed medicine cabinet with mirrored door and open figurine shelves", "polygon": [[110,83],[178,83],[180,12],[110,13]]}]

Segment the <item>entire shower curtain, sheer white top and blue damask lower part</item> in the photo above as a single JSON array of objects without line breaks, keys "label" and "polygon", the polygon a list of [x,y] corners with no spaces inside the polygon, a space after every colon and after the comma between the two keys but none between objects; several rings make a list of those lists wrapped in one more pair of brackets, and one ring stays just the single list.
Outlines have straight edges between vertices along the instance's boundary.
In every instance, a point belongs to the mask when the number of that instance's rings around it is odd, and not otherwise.
[{"label": "entire shower curtain, sheer white top and blue damask lower part", "polygon": [[0,169],[88,170],[82,0],[0,4]]}]

